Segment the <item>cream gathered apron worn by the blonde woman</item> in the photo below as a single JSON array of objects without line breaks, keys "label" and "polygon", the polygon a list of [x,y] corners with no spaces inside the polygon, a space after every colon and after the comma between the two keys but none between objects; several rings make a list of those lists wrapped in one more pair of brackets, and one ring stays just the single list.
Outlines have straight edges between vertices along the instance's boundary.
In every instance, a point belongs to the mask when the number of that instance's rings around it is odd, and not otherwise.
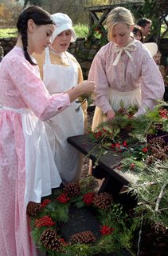
[{"label": "cream gathered apron worn by the blonde woman", "polygon": [[[129,106],[140,106],[141,105],[141,90],[140,87],[127,91],[127,92],[121,92],[118,90],[113,90],[109,88],[108,92],[108,100],[109,103],[114,111],[119,110],[120,103],[123,101],[123,106],[127,109]],[[107,117],[103,113],[102,110],[98,106],[96,106],[96,110],[93,116],[92,121],[92,131],[96,129],[97,126],[100,125],[101,122],[106,122]]]}]

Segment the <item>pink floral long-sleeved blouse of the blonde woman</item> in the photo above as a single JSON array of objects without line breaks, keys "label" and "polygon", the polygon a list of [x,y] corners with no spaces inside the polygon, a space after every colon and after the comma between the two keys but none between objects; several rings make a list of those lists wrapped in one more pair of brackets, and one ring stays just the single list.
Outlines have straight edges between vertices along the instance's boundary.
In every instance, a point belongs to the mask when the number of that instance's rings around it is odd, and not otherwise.
[{"label": "pink floral long-sleeved blouse of the blonde woman", "polygon": [[[164,82],[158,67],[148,50],[137,40],[136,50],[131,51],[131,58],[123,54],[117,66],[113,66],[117,53],[112,51],[113,42],[107,43],[93,59],[88,79],[96,82],[96,106],[105,113],[111,110],[108,101],[108,88],[120,92],[129,92],[140,86],[142,104],[138,114],[143,114],[146,107],[152,109],[156,99],[162,99]],[[123,99],[124,102],[124,99]]]}]

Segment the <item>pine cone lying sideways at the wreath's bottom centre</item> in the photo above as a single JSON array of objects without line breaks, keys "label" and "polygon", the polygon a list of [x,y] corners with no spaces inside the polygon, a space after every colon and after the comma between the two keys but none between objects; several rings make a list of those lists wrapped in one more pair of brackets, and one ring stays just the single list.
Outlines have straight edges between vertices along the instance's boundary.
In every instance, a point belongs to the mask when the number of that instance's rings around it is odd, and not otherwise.
[{"label": "pine cone lying sideways at the wreath's bottom centre", "polygon": [[72,244],[76,243],[92,243],[96,242],[96,237],[91,231],[84,231],[80,233],[73,234],[70,238]]}]

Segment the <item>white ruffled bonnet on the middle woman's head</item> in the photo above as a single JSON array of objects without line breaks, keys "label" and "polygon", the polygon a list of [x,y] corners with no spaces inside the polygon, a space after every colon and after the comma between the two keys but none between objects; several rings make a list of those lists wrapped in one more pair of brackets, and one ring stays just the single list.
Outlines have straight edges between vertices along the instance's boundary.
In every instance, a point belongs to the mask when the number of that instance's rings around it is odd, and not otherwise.
[{"label": "white ruffled bonnet on the middle woman's head", "polygon": [[61,34],[65,30],[71,30],[71,33],[72,33],[71,42],[75,42],[76,33],[72,28],[71,18],[69,18],[67,14],[62,14],[62,13],[52,14],[51,17],[53,18],[53,22],[56,25],[56,28],[53,31],[53,34],[51,37],[51,42],[53,43],[57,35]]}]

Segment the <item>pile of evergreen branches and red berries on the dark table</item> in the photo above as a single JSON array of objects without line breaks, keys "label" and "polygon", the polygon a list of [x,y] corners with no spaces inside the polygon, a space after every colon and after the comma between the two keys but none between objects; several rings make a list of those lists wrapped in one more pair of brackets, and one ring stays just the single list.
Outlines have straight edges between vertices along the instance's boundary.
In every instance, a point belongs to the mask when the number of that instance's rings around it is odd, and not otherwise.
[{"label": "pile of evergreen branches and red berries on the dark table", "polygon": [[126,110],[121,106],[115,119],[91,132],[95,146],[89,154],[95,154],[95,164],[104,154],[109,154],[109,150],[122,154],[122,160],[112,167],[129,178],[131,183],[124,192],[135,194],[138,200],[133,217],[133,223],[136,226],[136,221],[139,222],[140,228],[136,250],[142,249],[141,232],[145,230],[148,238],[155,239],[151,249],[146,237],[147,246],[152,250],[146,254],[158,255],[153,252],[154,246],[158,241],[158,246],[164,245],[164,251],[168,238],[168,104],[158,102],[154,110],[139,117],[134,116],[135,112],[135,108]]}]

